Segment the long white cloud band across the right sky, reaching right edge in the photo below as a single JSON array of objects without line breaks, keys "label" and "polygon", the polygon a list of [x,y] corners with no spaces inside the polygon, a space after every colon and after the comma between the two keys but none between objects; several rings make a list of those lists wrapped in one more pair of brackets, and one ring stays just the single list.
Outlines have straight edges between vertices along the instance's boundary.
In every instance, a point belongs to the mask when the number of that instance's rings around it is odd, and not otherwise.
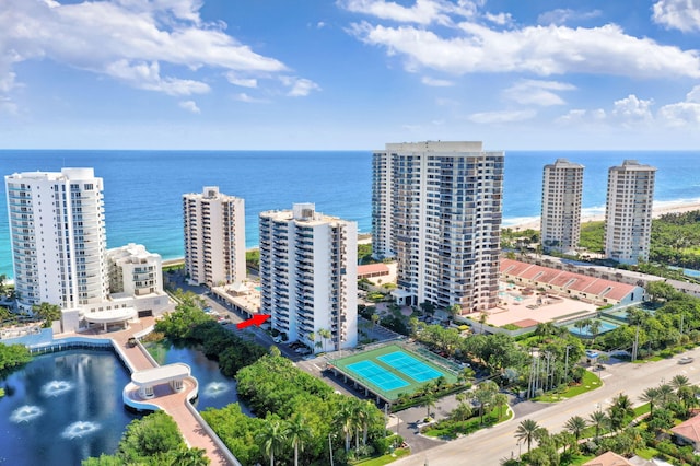
[{"label": "long white cloud band across the right sky, reaching right edge", "polygon": [[527,26],[492,31],[462,23],[462,35],[441,37],[413,26],[387,27],[354,23],[350,33],[360,40],[386,47],[406,59],[407,70],[420,67],[465,74],[530,72],[539,75],[576,73],[626,77],[700,78],[700,56],[650,38],[637,38],[608,24],[593,28]]}]

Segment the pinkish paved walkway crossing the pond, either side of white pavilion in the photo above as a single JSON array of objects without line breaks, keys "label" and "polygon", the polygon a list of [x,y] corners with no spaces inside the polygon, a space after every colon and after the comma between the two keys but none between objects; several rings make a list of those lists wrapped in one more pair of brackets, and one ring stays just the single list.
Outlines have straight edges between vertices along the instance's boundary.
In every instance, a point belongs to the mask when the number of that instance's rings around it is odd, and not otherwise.
[{"label": "pinkish paved walkway crossing the pond, either side of white pavilion", "polygon": [[[56,336],[57,339],[61,337],[82,336],[91,338],[104,338],[112,339],[119,346],[121,353],[129,360],[129,364],[137,371],[143,371],[147,369],[153,369],[154,365],[143,354],[139,346],[130,347],[127,341],[133,334],[141,331],[141,328],[148,328],[153,325],[155,319],[153,317],[141,317],[140,324],[137,324],[139,328],[127,328],[126,330],[97,333],[95,330],[89,330],[80,334],[61,334]],[[154,388],[155,397],[142,400],[151,405],[155,405],[165,412],[167,412],[177,423],[180,433],[183,434],[185,442],[190,447],[202,448],[207,452],[207,457],[211,461],[212,465],[231,465],[233,463],[226,459],[223,452],[217,446],[214,440],[207,433],[207,429],[197,420],[197,418],[189,410],[187,405],[187,394],[195,388],[195,382],[186,380],[185,389],[183,392],[173,392],[167,385],[159,385]],[[137,396],[138,394],[131,394]]]}]

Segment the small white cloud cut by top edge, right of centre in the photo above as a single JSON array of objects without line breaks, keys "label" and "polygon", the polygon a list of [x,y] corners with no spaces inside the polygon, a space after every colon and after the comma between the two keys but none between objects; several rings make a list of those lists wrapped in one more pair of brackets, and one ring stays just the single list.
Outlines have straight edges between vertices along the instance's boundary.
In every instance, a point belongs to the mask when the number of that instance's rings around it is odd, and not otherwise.
[{"label": "small white cloud cut by top edge, right of centre", "polygon": [[465,19],[476,13],[476,3],[467,0],[459,0],[456,3],[447,0],[416,0],[412,7],[385,0],[339,0],[338,4],[354,13],[423,25],[431,23],[451,25],[453,24],[451,15]]}]

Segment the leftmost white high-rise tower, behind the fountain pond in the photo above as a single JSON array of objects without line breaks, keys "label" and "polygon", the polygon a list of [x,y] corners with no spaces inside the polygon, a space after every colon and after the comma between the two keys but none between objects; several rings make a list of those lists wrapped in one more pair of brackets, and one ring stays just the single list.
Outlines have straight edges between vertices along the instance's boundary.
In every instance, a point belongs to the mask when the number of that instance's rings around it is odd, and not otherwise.
[{"label": "leftmost white high-rise tower, behind the fountain pond", "polygon": [[21,308],[63,310],[108,293],[103,182],[93,168],[5,176],[14,283]]}]

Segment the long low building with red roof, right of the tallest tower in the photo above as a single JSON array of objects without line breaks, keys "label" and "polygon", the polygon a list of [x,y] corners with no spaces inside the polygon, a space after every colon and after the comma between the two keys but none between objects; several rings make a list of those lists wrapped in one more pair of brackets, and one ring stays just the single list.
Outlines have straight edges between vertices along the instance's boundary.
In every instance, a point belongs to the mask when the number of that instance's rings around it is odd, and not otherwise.
[{"label": "long low building with red roof, right of the tallest tower", "polygon": [[642,287],[506,258],[501,259],[501,280],[600,305],[628,304],[644,298]]}]

